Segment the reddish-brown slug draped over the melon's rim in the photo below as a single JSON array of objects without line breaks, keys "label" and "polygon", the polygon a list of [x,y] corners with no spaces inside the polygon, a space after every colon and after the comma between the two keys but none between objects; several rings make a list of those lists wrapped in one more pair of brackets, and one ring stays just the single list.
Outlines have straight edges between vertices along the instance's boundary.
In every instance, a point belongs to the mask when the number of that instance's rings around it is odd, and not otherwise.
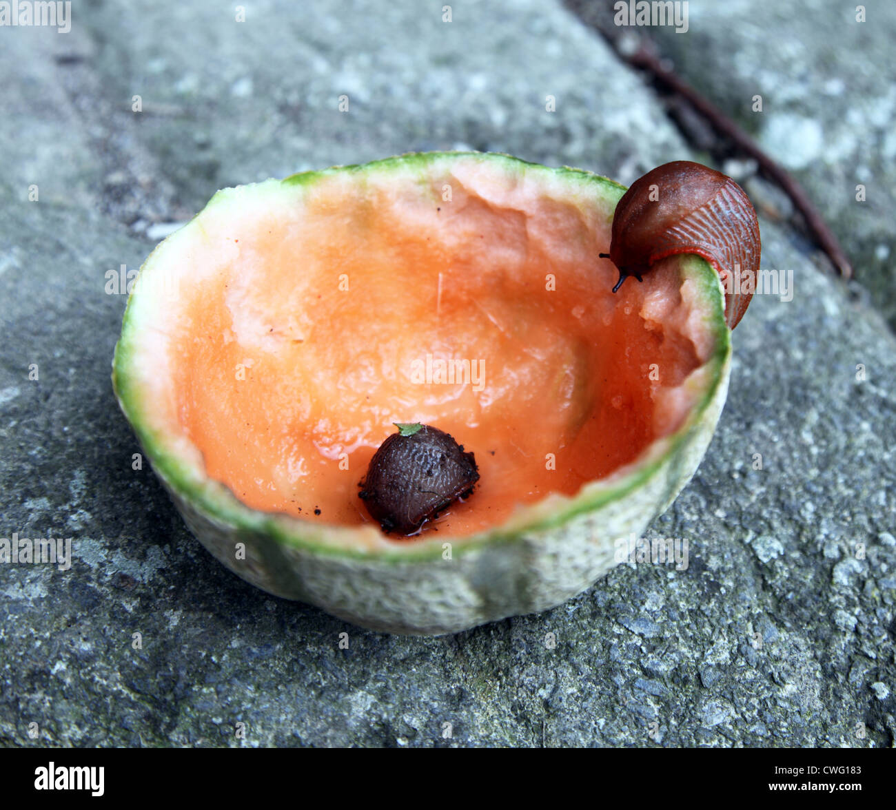
[{"label": "reddish-brown slug draped over the melon's rim", "polygon": [[636,180],[616,206],[608,257],[619,281],[676,253],[696,253],[719,273],[725,320],[735,328],[753,297],[760,258],[759,221],[744,190],[708,166],[676,160]]}]

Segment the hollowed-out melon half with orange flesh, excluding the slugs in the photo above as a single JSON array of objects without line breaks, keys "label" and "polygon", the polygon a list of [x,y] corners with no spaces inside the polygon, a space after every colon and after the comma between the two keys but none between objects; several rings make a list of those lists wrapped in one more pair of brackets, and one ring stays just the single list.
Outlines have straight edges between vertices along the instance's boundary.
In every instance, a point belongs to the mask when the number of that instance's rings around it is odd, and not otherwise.
[{"label": "hollowed-out melon half with orange flesh, excluding the slugs", "polygon": [[[728,388],[719,277],[610,292],[625,192],[479,153],[218,192],[141,269],[116,396],[195,535],[264,590],[438,634],[544,610],[699,465]],[[452,434],[473,495],[384,534],[358,482],[394,422]]]}]

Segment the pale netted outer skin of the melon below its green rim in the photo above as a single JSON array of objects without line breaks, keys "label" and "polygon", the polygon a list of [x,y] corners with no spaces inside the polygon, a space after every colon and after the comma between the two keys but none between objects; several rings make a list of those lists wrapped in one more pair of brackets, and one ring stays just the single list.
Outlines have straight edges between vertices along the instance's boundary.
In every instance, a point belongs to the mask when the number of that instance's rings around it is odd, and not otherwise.
[{"label": "pale netted outer skin of the melon below its green rim", "polygon": [[[714,272],[714,271],[713,271]],[[359,627],[398,635],[444,635],[502,618],[554,608],[589,588],[617,564],[616,541],[640,537],[676,499],[709,447],[728,390],[726,357],[701,419],[676,447],[613,497],[582,505],[556,524],[452,548],[419,560],[326,553],[270,531],[221,521],[159,476],[186,524],[211,554],[247,582],[303,601]],[[447,541],[447,540],[446,540]],[[238,560],[244,543],[245,560]]]}]

